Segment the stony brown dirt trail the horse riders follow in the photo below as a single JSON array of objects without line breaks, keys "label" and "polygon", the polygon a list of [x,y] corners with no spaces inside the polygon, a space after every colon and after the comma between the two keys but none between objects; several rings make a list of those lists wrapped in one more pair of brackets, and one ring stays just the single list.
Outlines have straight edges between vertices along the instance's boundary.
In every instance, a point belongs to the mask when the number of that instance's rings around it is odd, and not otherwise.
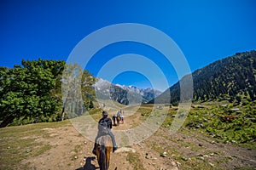
[{"label": "stony brown dirt trail the horse riders follow", "polygon": [[[129,116],[124,124],[113,127],[113,130],[129,129],[138,122],[139,116]],[[38,141],[51,145],[51,149],[22,161],[22,164],[28,164],[31,169],[95,170],[98,167],[96,157],[91,153],[93,142],[85,139],[72,125],[57,129],[44,128],[44,131],[49,133],[50,138],[38,138]],[[163,151],[166,151],[166,155],[160,156]],[[135,162],[127,161],[128,156],[133,157]],[[211,169],[234,169],[256,167],[256,151],[221,144],[188,129],[170,136],[168,130],[160,128],[140,144],[119,148],[111,155],[110,162],[110,170],[116,167],[121,170],[140,169],[135,168],[136,163],[146,170],[177,170],[184,163],[193,167],[195,162],[206,164]]]}]

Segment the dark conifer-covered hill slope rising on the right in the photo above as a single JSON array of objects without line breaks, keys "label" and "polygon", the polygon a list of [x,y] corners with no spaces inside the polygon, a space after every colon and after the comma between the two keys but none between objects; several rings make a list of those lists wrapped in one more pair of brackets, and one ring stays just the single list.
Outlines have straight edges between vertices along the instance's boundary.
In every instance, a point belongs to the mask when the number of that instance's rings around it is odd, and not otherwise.
[{"label": "dark conifer-covered hill slope rising on the right", "polygon": [[[212,99],[230,102],[256,99],[256,51],[237,53],[219,59],[192,73],[194,82],[194,101]],[[186,81],[183,77],[181,82]],[[179,82],[148,103],[177,103],[179,101]],[[170,99],[171,93],[172,98]]]}]

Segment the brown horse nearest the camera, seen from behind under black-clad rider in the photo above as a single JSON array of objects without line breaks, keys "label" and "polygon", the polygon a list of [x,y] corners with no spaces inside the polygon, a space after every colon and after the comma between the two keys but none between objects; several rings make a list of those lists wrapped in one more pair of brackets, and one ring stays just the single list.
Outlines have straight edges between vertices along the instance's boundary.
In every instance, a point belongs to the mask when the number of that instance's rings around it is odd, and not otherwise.
[{"label": "brown horse nearest the camera, seen from behind under black-clad rider", "polygon": [[96,156],[100,170],[108,170],[110,153],[113,150],[111,137],[106,134],[96,141]]}]

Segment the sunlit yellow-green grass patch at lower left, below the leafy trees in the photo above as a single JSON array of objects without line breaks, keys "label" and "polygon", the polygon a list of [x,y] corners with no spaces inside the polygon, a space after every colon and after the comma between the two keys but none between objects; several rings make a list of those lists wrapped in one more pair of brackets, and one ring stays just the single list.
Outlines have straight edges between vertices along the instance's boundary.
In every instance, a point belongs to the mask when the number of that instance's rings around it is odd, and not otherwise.
[{"label": "sunlit yellow-green grass patch at lower left, below the leafy trees", "polygon": [[20,161],[42,155],[52,147],[36,140],[38,136],[51,138],[44,128],[68,125],[69,121],[64,121],[0,128],[0,169],[28,169],[27,165],[21,165]]}]

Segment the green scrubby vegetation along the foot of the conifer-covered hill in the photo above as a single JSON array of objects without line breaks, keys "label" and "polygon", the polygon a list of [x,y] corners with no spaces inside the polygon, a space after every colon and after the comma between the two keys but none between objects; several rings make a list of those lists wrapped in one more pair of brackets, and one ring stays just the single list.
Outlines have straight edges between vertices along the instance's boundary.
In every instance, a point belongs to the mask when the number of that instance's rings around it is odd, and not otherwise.
[{"label": "green scrubby vegetation along the foot of the conifer-covered hill", "polygon": [[[225,103],[192,105],[183,127],[205,133],[224,143],[256,149],[256,101],[243,105],[227,104],[228,101]],[[138,112],[144,121],[152,114],[152,105],[143,105]],[[171,107],[161,126],[170,128],[176,116],[177,107]]]}]

